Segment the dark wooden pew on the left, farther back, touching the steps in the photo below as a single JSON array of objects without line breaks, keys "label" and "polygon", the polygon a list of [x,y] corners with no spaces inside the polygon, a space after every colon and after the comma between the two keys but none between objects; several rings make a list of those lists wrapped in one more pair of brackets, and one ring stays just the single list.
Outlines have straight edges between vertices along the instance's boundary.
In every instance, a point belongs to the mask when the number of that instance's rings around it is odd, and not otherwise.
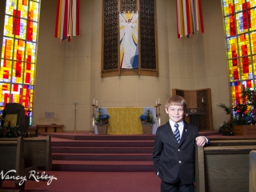
[{"label": "dark wooden pew on the left, farther back, touching the steps", "polygon": [[[17,138],[0,138],[0,141],[16,141]],[[51,170],[51,137],[24,138],[25,167],[38,166],[40,170]]]}]

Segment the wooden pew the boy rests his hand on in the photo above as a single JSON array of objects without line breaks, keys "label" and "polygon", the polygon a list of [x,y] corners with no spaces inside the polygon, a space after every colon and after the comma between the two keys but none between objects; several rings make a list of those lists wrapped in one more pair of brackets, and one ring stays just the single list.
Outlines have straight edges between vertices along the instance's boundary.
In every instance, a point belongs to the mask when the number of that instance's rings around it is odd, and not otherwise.
[{"label": "wooden pew the boy rests his hand on", "polygon": [[230,142],[230,146],[198,146],[195,152],[195,191],[249,191],[249,154],[251,150],[256,150],[256,146],[246,146],[245,143],[237,142],[236,146],[234,142]]}]

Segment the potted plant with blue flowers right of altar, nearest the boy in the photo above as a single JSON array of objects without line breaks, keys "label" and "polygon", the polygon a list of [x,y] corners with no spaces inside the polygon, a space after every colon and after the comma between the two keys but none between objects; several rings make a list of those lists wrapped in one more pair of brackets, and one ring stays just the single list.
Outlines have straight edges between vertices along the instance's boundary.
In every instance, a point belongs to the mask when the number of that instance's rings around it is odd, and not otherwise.
[{"label": "potted plant with blue flowers right of altar, nearest the boy", "polygon": [[142,123],[143,134],[151,134],[153,124],[156,122],[151,111],[146,110],[145,114],[142,114],[139,118]]}]

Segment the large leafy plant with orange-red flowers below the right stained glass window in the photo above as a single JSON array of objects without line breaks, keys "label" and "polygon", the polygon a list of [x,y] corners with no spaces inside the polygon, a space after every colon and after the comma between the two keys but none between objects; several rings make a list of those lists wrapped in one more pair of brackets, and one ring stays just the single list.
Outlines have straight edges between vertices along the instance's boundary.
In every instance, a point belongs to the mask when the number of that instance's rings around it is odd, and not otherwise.
[{"label": "large leafy plant with orange-red flowers below the right stained glass window", "polygon": [[233,107],[228,107],[224,103],[218,104],[218,107],[225,110],[226,114],[230,114],[229,120],[223,122],[218,132],[223,135],[246,135],[246,133],[250,133],[250,130],[255,129],[254,126],[252,126],[255,125],[256,122],[255,96],[256,93],[254,90],[246,88],[242,90],[243,103],[238,102],[238,104]]}]

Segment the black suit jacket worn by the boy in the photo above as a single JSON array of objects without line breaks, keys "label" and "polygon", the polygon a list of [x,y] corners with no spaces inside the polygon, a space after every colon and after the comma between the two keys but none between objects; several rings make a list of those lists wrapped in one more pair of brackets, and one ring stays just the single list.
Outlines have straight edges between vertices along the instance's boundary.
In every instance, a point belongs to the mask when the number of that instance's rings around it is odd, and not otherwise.
[{"label": "black suit jacket worn by the boy", "polygon": [[154,140],[152,160],[154,171],[163,182],[194,183],[194,148],[198,137],[196,126],[184,122],[181,142],[178,144],[170,122],[159,126]]}]

